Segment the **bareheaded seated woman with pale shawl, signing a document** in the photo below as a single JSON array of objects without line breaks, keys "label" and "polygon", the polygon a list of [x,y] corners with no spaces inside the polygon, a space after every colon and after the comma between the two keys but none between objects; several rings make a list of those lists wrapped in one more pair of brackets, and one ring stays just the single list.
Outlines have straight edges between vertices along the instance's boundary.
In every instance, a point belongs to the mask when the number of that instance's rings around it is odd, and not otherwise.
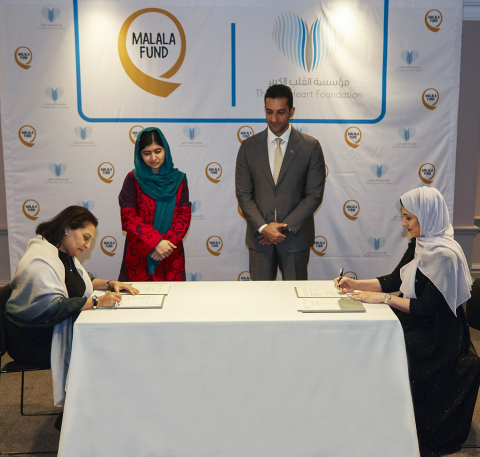
[{"label": "bareheaded seated woman with pale shawl, signing a document", "polygon": [[[6,304],[8,353],[18,363],[52,369],[54,401],[65,396],[73,323],[80,311],[113,307],[125,289],[120,281],[93,278],[77,256],[95,236],[97,218],[86,208],[69,206],[36,229],[36,238],[18,263]],[[110,289],[97,297],[94,289]]]}]

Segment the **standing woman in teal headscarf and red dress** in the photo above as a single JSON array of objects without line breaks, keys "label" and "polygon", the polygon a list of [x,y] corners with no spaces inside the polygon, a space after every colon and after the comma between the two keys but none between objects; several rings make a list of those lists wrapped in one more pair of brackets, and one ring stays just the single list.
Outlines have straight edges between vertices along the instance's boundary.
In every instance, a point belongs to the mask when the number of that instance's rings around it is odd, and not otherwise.
[{"label": "standing woman in teal headscarf and red dress", "polygon": [[156,127],[138,134],[134,163],[118,196],[127,232],[119,280],[185,281],[182,240],[192,217],[185,173]]}]

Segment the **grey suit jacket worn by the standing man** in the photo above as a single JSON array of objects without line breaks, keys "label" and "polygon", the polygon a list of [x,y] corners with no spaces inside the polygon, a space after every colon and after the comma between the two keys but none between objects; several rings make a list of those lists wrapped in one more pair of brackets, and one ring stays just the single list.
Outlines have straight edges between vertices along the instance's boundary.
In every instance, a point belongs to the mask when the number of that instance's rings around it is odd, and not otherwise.
[{"label": "grey suit jacket worn by the standing man", "polygon": [[240,146],[235,171],[235,192],[247,220],[245,242],[250,249],[266,250],[258,229],[275,221],[288,224],[287,238],[277,245],[285,252],[308,249],[315,240],[313,214],[323,200],[325,160],[315,138],[292,127],[277,185],[268,161],[267,130],[247,138]]}]

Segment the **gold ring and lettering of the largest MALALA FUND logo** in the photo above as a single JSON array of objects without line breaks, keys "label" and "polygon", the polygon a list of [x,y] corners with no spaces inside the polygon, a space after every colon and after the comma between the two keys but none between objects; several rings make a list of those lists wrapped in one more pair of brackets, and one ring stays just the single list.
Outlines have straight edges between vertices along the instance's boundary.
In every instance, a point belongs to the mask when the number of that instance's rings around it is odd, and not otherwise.
[{"label": "gold ring and lettering of the largest MALALA FUND logo", "polygon": [[[170,79],[173,75],[175,75],[175,73],[177,73],[178,70],[180,70],[180,67],[183,64],[183,60],[185,59],[185,53],[187,50],[187,40],[185,37],[185,32],[183,30],[182,24],[180,24],[180,21],[173,14],[160,8],[145,8],[131,14],[127,18],[127,20],[123,23],[122,28],[120,29],[120,33],[118,35],[118,55],[120,57],[120,62],[122,63],[125,73],[127,73],[128,77],[138,87],[150,94],[157,95],[159,97],[168,97],[175,89],[180,86],[180,84],[152,78],[151,76],[140,70],[133,63],[127,51],[128,41],[128,43],[132,43],[132,45],[135,44],[138,47],[140,57],[143,58],[145,54],[146,58],[158,58],[159,61],[162,62],[162,64],[165,61],[168,62],[168,47],[165,45],[167,42],[169,45],[172,44],[172,35],[174,44],[176,45],[175,34],[163,32],[162,35],[162,33],[159,32],[149,31],[144,33],[139,32],[137,36],[134,32],[132,32],[132,38],[127,40],[128,30],[132,25],[133,21],[139,16],[149,13],[160,14],[173,22],[174,26],[178,31],[177,40],[178,38],[180,39],[180,53],[178,55],[178,58],[167,71],[160,75],[160,78]],[[149,51],[151,55],[149,55]]]}]

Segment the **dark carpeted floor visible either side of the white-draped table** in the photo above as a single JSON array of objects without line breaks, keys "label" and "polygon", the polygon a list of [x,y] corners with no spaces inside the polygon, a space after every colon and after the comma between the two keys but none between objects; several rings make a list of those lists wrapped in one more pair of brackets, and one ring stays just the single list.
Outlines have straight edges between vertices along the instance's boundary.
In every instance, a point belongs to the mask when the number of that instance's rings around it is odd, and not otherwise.
[{"label": "dark carpeted floor visible either side of the white-draped table", "polygon": [[[480,354],[480,331],[471,330],[473,344]],[[8,361],[3,357],[2,364]],[[0,381],[0,454],[4,452],[56,451],[60,434],[53,427],[57,416],[20,415],[20,374],[1,376]],[[52,411],[54,408],[50,371],[26,374],[25,412]],[[480,401],[477,400],[472,429],[465,446],[480,446]],[[52,454],[55,455],[56,453]],[[34,454],[40,456],[41,454]],[[480,456],[479,449],[464,448],[455,457]],[[342,457],[342,456],[339,456]]]}]

